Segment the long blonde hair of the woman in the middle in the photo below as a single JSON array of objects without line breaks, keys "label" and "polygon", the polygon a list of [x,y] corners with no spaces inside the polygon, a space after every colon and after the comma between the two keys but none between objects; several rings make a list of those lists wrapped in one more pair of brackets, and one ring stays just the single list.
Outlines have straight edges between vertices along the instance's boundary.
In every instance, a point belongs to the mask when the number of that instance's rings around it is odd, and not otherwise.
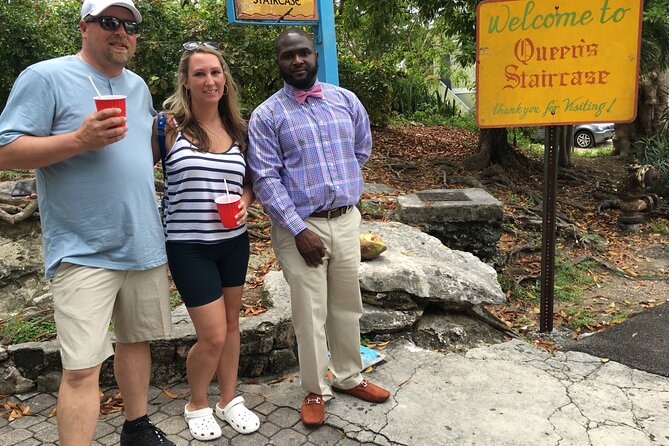
[{"label": "long blonde hair of the woman in the middle", "polygon": [[197,143],[198,150],[206,152],[211,147],[211,141],[207,132],[200,126],[197,119],[193,116],[190,108],[190,97],[188,90],[184,86],[184,80],[188,78],[188,68],[190,57],[196,53],[213,54],[223,68],[225,75],[224,95],[218,101],[218,114],[223,122],[223,127],[230,134],[233,141],[239,143],[242,152],[246,150],[246,121],[242,118],[239,108],[239,90],[237,83],[232,78],[230,68],[223,59],[223,55],[204,45],[192,51],[185,50],[179,59],[179,67],[176,73],[176,90],[170,97],[163,102],[165,112],[172,115],[176,120],[175,131],[185,132],[192,136]]}]

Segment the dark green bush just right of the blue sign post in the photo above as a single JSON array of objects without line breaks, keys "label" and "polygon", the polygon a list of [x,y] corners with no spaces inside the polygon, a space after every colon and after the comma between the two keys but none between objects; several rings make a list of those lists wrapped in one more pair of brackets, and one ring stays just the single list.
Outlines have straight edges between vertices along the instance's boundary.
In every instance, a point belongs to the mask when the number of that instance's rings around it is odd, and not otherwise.
[{"label": "dark green bush just right of the blue sign post", "polygon": [[387,126],[393,112],[391,69],[374,62],[343,57],[339,60],[339,83],[358,96],[373,125]]}]

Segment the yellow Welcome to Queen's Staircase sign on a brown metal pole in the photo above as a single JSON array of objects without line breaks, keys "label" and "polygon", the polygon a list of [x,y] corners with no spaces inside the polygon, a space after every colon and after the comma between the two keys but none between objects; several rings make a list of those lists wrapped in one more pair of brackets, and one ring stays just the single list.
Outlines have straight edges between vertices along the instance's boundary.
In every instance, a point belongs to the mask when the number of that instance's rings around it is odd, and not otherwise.
[{"label": "yellow Welcome to Queen's Staircase sign on a brown metal pole", "polygon": [[630,122],[643,0],[487,0],[477,7],[479,127]]}]

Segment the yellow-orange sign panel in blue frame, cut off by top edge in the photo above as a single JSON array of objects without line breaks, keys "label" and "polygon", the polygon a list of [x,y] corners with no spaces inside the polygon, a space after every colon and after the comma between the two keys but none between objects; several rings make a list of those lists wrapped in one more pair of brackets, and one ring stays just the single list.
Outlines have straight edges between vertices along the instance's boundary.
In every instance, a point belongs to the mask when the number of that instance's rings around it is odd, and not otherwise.
[{"label": "yellow-orange sign panel in blue frame, cut off by top edge", "polygon": [[234,0],[237,20],[318,21],[316,0]]}]

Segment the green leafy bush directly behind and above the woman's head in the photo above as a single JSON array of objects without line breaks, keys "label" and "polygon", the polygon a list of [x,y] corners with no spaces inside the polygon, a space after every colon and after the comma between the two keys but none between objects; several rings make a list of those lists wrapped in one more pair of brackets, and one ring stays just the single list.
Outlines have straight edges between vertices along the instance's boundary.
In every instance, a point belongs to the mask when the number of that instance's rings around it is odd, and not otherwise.
[{"label": "green leafy bush directly behind and above the woman's head", "polygon": [[283,86],[274,63],[274,39],[281,28],[230,25],[225,2],[218,0],[183,6],[171,0],[148,0],[140,9],[145,20],[129,67],[148,84],[157,110],[175,89],[182,44],[191,40],[211,40],[221,46],[241,90],[244,116]]}]

